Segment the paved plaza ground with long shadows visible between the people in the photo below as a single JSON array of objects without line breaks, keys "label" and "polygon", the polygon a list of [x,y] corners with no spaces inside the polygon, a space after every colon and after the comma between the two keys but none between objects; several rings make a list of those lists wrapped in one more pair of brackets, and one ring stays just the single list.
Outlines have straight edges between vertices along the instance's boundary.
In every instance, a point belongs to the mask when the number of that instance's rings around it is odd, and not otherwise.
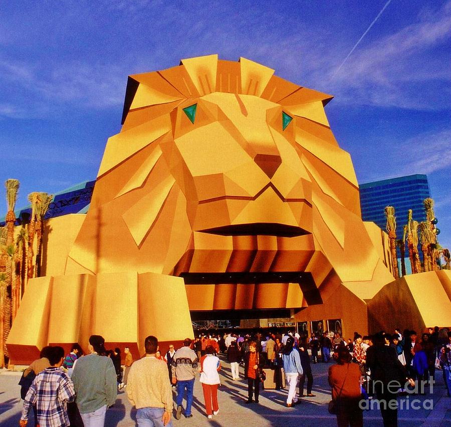
[{"label": "paved plaza ground with long shadows visible between the people", "polygon": [[[313,393],[316,397],[304,397],[302,404],[294,408],[285,406],[286,390],[263,390],[260,403],[245,404],[247,398],[247,381],[233,381],[229,363],[222,362],[221,386],[218,391],[219,413],[212,420],[206,418],[203,407],[202,388],[198,381],[194,387],[193,417],[180,420],[172,418],[174,427],[214,426],[214,427],[265,427],[265,426],[315,426],[336,425],[334,415],[327,411],[330,400],[330,387],[327,383],[327,364],[312,365],[314,375]],[[240,366],[243,377],[243,367]],[[432,394],[411,395],[404,399],[404,408],[398,411],[400,427],[451,427],[451,398],[446,397],[441,371],[435,375],[436,384]],[[0,370],[0,425],[19,425],[22,401],[18,385],[21,373]],[[175,397],[175,392],[174,392]],[[414,400],[417,401],[414,402]],[[429,402],[428,400],[432,400]],[[408,408],[406,408],[408,402]],[[419,409],[413,409],[419,405]],[[183,402],[184,404],[184,402]],[[433,410],[429,407],[433,405]],[[425,407],[423,407],[425,406]],[[382,418],[377,408],[364,411],[364,425],[380,426]],[[31,423],[33,425],[33,423]],[[107,427],[135,426],[135,410],[130,406],[125,392],[120,391],[116,404],[109,408],[105,421]]]}]

